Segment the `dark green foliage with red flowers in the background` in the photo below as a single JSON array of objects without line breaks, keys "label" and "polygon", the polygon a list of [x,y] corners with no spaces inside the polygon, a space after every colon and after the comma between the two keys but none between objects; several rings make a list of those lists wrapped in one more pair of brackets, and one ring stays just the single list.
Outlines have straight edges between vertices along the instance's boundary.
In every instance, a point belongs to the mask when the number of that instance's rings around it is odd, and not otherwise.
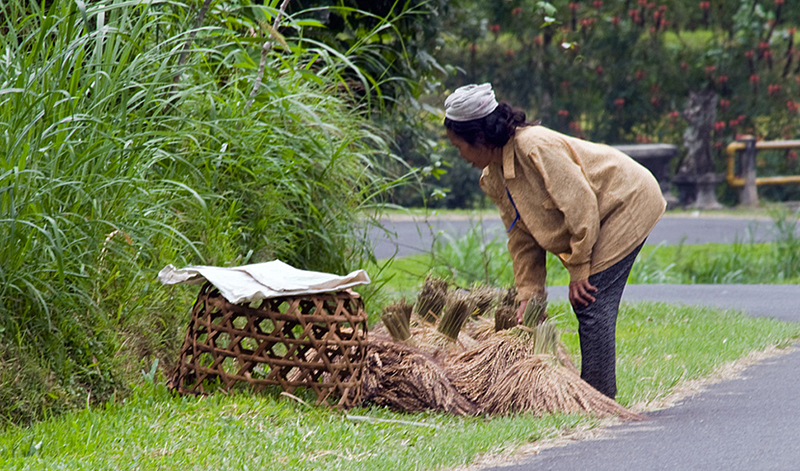
[{"label": "dark green foliage with red flowers in the background", "polygon": [[561,131],[681,144],[690,91],[718,95],[718,152],[737,134],[798,137],[800,9],[784,0],[471,0],[448,28],[450,79],[491,81]]}]

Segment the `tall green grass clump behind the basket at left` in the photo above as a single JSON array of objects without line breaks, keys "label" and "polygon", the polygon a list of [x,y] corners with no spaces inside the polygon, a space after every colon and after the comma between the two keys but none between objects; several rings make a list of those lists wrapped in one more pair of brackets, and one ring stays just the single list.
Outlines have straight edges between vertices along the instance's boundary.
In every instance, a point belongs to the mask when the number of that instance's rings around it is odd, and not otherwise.
[{"label": "tall green grass clump behind the basket at left", "polygon": [[360,214],[394,182],[342,91],[348,56],[280,36],[278,1],[199,7],[0,3],[0,420],[108,399],[138,359],[174,357],[194,293],[157,285],[168,263],[371,257]]}]

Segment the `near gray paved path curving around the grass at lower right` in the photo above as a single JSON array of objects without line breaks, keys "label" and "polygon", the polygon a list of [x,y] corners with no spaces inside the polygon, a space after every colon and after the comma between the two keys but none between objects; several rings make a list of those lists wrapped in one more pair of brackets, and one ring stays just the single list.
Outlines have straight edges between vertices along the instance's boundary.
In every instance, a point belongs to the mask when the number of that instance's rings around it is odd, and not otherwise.
[{"label": "near gray paved path curving around the grass at lower right", "polygon": [[[566,291],[550,290],[551,298]],[[632,285],[626,300],[655,300],[741,309],[800,321],[800,286]],[[733,380],[648,420],[610,427],[600,439],[543,450],[522,470],[797,470],[800,469],[800,349],[746,368]]]}]

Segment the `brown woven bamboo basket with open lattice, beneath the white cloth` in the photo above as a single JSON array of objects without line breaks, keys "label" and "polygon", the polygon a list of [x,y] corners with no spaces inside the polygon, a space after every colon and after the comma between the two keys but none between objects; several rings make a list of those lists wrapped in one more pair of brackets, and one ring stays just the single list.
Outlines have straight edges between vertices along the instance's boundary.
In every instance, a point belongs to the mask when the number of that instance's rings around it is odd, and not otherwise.
[{"label": "brown woven bamboo basket with open lattice, beneath the white cloth", "polygon": [[210,283],[200,289],[170,381],[182,394],[253,391],[275,385],[313,391],[317,404],[361,399],[367,315],[350,291],[231,304]]}]

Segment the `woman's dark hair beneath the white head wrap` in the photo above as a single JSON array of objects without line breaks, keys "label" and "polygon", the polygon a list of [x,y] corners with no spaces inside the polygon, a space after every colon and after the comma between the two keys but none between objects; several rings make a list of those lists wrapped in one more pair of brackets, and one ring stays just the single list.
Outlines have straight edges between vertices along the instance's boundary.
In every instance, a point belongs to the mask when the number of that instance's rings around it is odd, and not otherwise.
[{"label": "woman's dark hair beneath the white head wrap", "polygon": [[467,144],[476,143],[489,147],[503,147],[514,135],[517,128],[533,126],[525,120],[525,112],[512,108],[508,103],[500,103],[494,111],[483,118],[471,121],[444,119],[444,127]]}]

